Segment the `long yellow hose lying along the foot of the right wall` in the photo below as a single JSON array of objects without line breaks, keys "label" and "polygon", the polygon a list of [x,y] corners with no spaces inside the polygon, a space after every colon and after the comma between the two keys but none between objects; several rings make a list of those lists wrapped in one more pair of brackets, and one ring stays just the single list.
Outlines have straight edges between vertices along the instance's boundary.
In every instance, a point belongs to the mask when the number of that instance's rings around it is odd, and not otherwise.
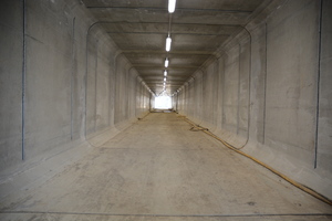
[{"label": "long yellow hose lying along the foot of the right wall", "polygon": [[321,200],[321,201],[323,201],[323,202],[325,202],[325,203],[332,206],[332,201],[331,201],[330,199],[328,199],[326,197],[324,197],[324,196],[320,194],[319,192],[317,192],[317,191],[310,189],[309,187],[305,187],[304,185],[301,185],[301,183],[297,182],[295,180],[293,180],[293,179],[287,177],[286,175],[279,172],[278,170],[273,169],[272,167],[268,166],[267,164],[264,164],[264,162],[262,162],[262,161],[256,159],[255,157],[251,157],[250,155],[247,155],[246,152],[243,152],[243,151],[237,149],[236,147],[234,147],[232,145],[228,144],[228,143],[225,141],[224,139],[220,139],[219,137],[217,137],[216,135],[214,135],[211,131],[208,130],[208,128],[205,128],[205,127],[201,127],[201,126],[195,124],[194,122],[189,120],[189,119],[186,118],[185,116],[179,116],[179,117],[184,118],[184,120],[187,122],[188,124],[190,124],[193,127],[198,128],[198,130],[201,130],[201,131],[204,131],[205,134],[207,134],[207,135],[214,137],[215,139],[221,141],[221,143],[222,143],[226,147],[228,147],[229,149],[231,149],[231,150],[234,150],[234,151],[236,151],[236,152],[238,152],[238,154],[240,154],[240,155],[242,155],[242,156],[245,156],[245,157],[247,157],[247,158],[253,160],[255,162],[257,162],[257,164],[263,166],[263,167],[267,168],[268,170],[270,170],[270,171],[272,171],[273,173],[278,175],[279,177],[281,177],[282,179],[284,179],[286,181],[288,181],[288,182],[291,183],[292,186],[294,186],[294,187],[297,187],[297,188],[303,190],[304,192],[307,192],[307,193],[313,196],[314,198],[317,198],[317,199],[319,199],[319,200]]}]

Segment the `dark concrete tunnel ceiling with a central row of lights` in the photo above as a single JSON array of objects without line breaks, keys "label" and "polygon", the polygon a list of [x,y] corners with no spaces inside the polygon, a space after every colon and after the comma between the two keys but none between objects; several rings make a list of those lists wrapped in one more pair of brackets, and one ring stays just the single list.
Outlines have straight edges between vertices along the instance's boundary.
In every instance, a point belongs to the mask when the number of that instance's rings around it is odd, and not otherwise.
[{"label": "dark concrete tunnel ceiling with a central row of lights", "polygon": [[[155,94],[163,91],[164,70],[166,91],[173,94],[267,4],[267,0],[177,0],[170,14],[168,0],[83,2]],[[168,32],[172,49],[166,52]]]}]

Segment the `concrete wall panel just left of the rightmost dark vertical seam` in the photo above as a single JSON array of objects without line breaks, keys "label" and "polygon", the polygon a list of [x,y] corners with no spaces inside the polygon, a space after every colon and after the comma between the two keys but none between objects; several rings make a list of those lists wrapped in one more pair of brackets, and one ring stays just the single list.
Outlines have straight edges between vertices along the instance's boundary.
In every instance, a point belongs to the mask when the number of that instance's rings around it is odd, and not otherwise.
[{"label": "concrete wall panel just left of the rightmost dark vertical seam", "polygon": [[314,148],[318,11],[312,2],[284,14],[287,22],[279,22],[283,14],[268,22],[266,143],[308,151],[304,161]]}]

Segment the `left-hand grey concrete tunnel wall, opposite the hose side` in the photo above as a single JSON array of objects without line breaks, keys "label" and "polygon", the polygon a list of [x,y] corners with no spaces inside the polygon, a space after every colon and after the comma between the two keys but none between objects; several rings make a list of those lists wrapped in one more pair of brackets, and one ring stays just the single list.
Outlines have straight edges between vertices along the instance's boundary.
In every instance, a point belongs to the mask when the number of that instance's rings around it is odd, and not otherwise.
[{"label": "left-hand grey concrete tunnel wall, opposite the hose side", "polygon": [[54,169],[148,112],[146,85],[80,1],[0,10],[1,179],[58,157]]}]

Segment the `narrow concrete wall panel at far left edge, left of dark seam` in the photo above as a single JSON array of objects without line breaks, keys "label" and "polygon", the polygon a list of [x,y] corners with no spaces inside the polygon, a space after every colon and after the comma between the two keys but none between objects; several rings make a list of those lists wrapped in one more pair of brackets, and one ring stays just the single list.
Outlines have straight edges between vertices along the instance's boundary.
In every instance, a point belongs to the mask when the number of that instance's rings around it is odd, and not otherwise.
[{"label": "narrow concrete wall panel at far left edge, left of dark seam", "polygon": [[0,168],[22,159],[23,3],[0,3]]}]

